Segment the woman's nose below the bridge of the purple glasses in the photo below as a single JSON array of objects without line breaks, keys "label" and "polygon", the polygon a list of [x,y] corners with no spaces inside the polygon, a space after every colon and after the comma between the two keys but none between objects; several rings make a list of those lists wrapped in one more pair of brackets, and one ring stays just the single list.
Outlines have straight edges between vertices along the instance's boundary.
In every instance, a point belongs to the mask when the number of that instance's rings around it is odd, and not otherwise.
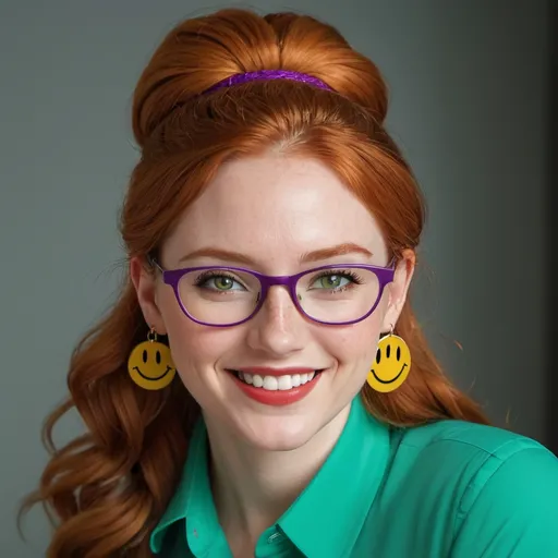
[{"label": "woman's nose below the bridge of the purple glasses", "polygon": [[268,290],[259,312],[247,324],[247,343],[256,351],[287,356],[307,344],[306,320],[283,286],[274,286]]}]

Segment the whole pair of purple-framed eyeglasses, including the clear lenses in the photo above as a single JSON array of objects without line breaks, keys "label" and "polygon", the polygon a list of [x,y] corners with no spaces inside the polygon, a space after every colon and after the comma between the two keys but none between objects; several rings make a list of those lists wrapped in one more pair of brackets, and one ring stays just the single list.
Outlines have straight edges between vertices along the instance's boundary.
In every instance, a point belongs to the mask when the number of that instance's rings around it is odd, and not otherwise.
[{"label": "whole pair of purple-framed eyeglasses, including the clear lenses", "polygon": [[[330,326],[356,324],[376,310],[386,284],[395,276],[393,265],[331,264],[291,276],[267,276],[231,266],[167,270],[153,256],[148,262],[161,271],[182,312],[196,324],[210,327],[231,327],[250,320],[274,286],[287,287],[295,307],[313,322]],[[207,286],[211,281],[214,288]],[[216,282],[225,289],[215,288]],[[234,283],[240,289],[232,289]]]}]

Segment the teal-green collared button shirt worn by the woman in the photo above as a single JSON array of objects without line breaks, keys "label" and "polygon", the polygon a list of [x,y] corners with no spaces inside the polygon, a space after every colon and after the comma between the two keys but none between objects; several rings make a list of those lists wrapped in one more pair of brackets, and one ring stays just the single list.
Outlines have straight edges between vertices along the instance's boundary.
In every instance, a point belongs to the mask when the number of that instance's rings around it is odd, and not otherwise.
[{"label": "teal-green collared button shirt worn by the woman", "polygon": [[[151,533],[162,558],[231,558],[199,420],[182,482]],[[316,476],[256,558],[558,557],[558,459],[534,440],[439,421],[395,429],[357,397]]]}]

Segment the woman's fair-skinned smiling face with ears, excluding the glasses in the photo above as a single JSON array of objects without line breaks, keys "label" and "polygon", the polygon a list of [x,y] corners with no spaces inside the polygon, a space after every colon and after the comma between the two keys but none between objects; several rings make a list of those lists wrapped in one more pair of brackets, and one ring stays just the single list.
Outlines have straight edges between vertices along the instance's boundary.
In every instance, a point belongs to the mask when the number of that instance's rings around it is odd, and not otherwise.
[{"label": "woman's fair-skinned smiling face with ears, excluding the glasses", "polygon": [[[301,263],[308,253],[339,245],[360,248]],[[239,253],[242,260],[215,254],[186,257],[205,248]],[[378,225],[333,172],[315,160],[269,154],[220,169],[165,243],[160,264],[165,269],[235,266],[286,276],[328,264],[386,266],[388,254]],[[410,262],[400,264],[375,312],[353,325],[314,323],[298,311],[284,287],[272,287],[251,320],[217,328],[191,320],[160,275],[154,279],[141,269],[132,263],[146,320],[169,336],[180,377],[206,420],[221,433],[268,450],[302,446],[350,404],[366,381],[379,335],[397,322],[412,275]],[[242,288],[227,278],[206,284]],[[220,304],[219,295],[209,295]],[[323,372],[302,399],[274,404],[246,395],[241,379],[229,372],[253,367]],[[263,387],[252,389],[269,387],[263,379]]]}]

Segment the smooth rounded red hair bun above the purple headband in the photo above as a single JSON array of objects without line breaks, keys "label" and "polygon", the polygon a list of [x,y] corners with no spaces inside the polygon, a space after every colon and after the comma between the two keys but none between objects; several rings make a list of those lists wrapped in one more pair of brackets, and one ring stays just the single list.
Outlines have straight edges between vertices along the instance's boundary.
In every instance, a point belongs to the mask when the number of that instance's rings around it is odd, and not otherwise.
[{"label": "smooth rounded red hair bun above the purple headband", "polygon": [[331,26],[292,13],[262,17],[222,10],[186,20],[156,49],[134,93],[133,130],[140,144],[177,107],[238,73],[289,70],[313,75],[383,122],[386,85],[376,65]]}]

